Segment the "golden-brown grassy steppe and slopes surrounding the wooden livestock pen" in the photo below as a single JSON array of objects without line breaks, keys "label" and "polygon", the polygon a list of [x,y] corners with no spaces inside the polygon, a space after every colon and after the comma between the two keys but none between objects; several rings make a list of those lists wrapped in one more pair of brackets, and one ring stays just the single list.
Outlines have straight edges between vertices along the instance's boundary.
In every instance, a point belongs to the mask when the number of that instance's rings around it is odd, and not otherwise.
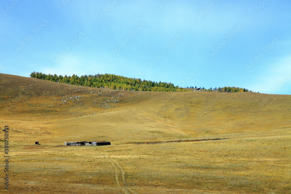
[{"label": "golden-brown grassy steppe and slopes surrounding the wooden livestock pen", "polygon": [[291,193],[290,105],[290,95],[105,90],[0,74],[10,156],[7,190],[1,130],[0,193]]}]

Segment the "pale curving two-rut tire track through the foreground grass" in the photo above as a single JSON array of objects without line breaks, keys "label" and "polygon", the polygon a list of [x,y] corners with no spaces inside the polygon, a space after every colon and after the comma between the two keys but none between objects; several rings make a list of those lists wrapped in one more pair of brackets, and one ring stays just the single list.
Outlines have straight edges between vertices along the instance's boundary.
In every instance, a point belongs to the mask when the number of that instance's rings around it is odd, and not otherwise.
[{"label": "pale curving two-rut tire track through the foreground grass", "polygon": [[[99,152],[99,151],[98,151]],[[100,155],[102,155],[107,161],[111,163],[111,165],[114,168],[114,174],[115,174],[115,181],[117,186],[126,194],[137,194],[135,191],[131,190],[130,188],[127,187],[126,181],[125,181],[125,172],[123,168],[120,166],[116,160],[111,158],[110,156],[99,152]]]}]

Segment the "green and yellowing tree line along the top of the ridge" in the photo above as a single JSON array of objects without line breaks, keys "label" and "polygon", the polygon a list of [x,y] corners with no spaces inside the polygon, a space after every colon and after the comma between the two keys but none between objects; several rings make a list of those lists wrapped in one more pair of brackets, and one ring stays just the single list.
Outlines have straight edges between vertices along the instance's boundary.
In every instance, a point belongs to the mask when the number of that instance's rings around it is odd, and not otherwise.
[{"label": "green and yellowing tree line along the top of the ridge", "polygon": [[[31,77],[47,81],[54,81],[59,83],[66,83],[75,86],[85,86],[93,88],[103,88],[111,90],[131,90],[131,91],[157,91],[157,92],[184,92],[191,91],[179,86],[174,86],[173,83],[155,82],[151,80],[141,80],[140,78],[128,78],[114,74],[95,74],[95,75],[82,75],[77,76],[62,76],[57,74],[44,74],[39,72],[32,72]],[[194,87],[190,87],[194,88]],[[197,88],[195,86],[195,88]],[[204,87],[201,88],[206,90]],[[210,88],[208,91],[212,92],[252,92],[251,90],[238,87],[223,87],[223,88]]]}]

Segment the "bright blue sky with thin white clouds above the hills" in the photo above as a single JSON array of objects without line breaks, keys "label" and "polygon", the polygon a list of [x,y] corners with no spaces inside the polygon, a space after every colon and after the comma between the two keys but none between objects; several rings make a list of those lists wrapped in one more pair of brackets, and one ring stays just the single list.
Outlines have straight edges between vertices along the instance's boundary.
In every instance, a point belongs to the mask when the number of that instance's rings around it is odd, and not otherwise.
[{"label": "bright blue sky with thin white clouds above the hills", "polygon": [[291,95],[291,1],[2,0],[0,72]]}]

